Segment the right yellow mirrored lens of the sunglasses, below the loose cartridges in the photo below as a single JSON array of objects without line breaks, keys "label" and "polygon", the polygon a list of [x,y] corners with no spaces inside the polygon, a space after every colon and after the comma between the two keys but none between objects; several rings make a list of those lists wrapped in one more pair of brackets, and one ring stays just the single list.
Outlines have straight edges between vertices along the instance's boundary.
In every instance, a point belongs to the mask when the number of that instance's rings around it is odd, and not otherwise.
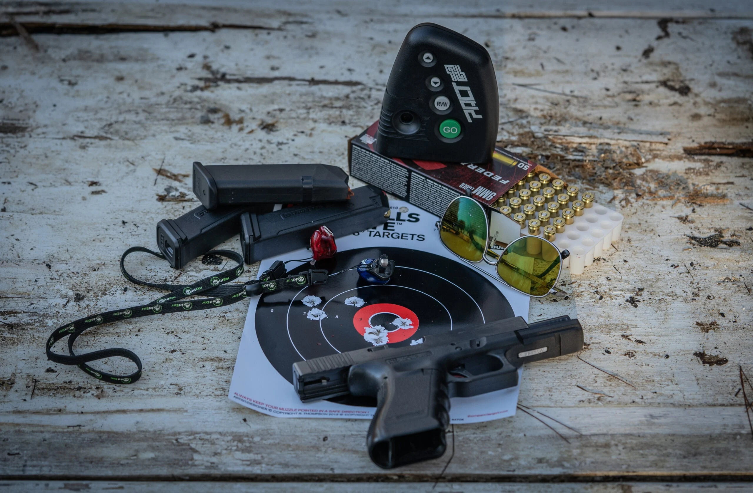
[{"label": "right yellow mirrored lens of the sunglasses, below the loose cartridges", "polygon": [[497,263],[497,274],[513,288],[531,296],[544,296],[559,277],[562,260],[550,242],[538,236],[515,240]]}]

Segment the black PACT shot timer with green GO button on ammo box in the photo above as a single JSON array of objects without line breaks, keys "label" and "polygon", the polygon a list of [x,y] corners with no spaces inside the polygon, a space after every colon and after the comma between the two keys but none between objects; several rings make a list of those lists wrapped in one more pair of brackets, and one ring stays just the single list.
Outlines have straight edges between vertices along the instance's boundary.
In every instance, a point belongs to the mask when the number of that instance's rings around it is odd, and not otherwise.
[{"label": "black PACT shot timer with green GO button on ammo box", "polygon": [[492,59],[464,35],[422,23],[408,32],[382,100],[375,150],[388,157],[492,159],[499,96]]}]

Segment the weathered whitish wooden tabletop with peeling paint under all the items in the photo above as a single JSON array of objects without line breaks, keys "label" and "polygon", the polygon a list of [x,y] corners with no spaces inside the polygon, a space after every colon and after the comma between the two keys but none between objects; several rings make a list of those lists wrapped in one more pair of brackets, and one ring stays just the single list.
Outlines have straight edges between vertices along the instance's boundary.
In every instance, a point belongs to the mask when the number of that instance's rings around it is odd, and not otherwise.
[{"label": "weathered whitish wooden tabletop with peeling paint under all the items", "polygon": [[[590,344],[581,358],[632,386],[575,357],[529,365],[520,402],[581,434],[539,415],[566,441],[523,412],[456,426],[447,479],[753,479],[738,392],[739,365],[753,376],[753,212],[740,205],[753,207],[753,13],[742,3],[630,2],[593,8],[590,18],[589,9],[551,5],[0,4],[29,25],[40,48],[0,38],[0,475],[32,481],[3,487],[179,478],[431,488],[449,454],[386,472],[367,458],[365,421],[270,418],[230,403],[245,306],[105,326],[77,342],[136,351],[145,363],[136,385],[99,385],[50,364],[43,348],[66,321],[154,297],[127,283],[117,260],[129,246],[153,248],[157,221],[197,205],[158,202],[166,187],[187,199],[191,190],[154,169],[187,174],[194,160],[345,167],[346,138],[376,120],[402,38],[425,20],[489,48],[501,142],[593,187],[603,202],[614,196],[611,206],[625,215],[619,251],[568,289]],[[686,17],[657,19],[664,15]],[[186,27],[213,22],[233,28]],[[63,24],[78,34],[44,34]],[[103,24],[111,34],[86,34]],[[120,32],[127,26],[142,32]],[[717,152],[728,154],[709,155]],[[716,229],[739,245],[701,247],[685,236]],[[235,240],[226,246],[237,248]],[[208,269],[140,262],[133,272],[167,281]],[[559,309],[534,301],[530,313]],[[136,488],[90,484],[111,486]],[[492,491],[451,486],[435,491]],[[623,482],[587,491],[696,486]]]}]

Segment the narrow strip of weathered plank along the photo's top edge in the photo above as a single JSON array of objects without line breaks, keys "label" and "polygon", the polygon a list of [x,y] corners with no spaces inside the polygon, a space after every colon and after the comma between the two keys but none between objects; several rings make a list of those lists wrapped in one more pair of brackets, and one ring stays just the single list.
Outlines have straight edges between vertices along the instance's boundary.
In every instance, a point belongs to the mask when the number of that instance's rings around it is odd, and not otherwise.
[{"label": "narrow strip of weathered plank along the photo's top edge", "polygon": [[[171,8],[181,5],[180,9]],[[355,9],[351,2],[336,0],[328,2],[300,2],[284,0],[271,2],[262,0],[254,2],[254,8],[242,0],[222,0],[207,5],[203,0],[176,0],[160,2],[157,5],[146,2],[63,2],[57,5],[32,4],[26,2],[5,2],[5,11],[14,14],[19,20],[49,20],[66,23],[71,21],[84,24],[107,24],[117,19],[123,24],[168,25],[160,20],[169,20],[169,24],[187,26],[211,26],[212,22],[220,25],[260,25],[258,14],[279,15],[287,20],[300,20],[306,17],[430,17],[447,18],[546,18],[546,17],[596,17],[596,18],[648,18],[663,17],[682,18],[750,18],[753,15],[750,5],[740,0],[724,0],[709,5],[708,2],[687,2],[668,0],[650,2],[650,0],[617,0],[615,2],[561,2],[546,0],[543,2],[524,2],[514,0],[500,5],[498,2],[452,2],[437,0],[430,4],[422,2],[399,2],[386,0],[379,4],[359,5]],[[114,14],[117,13],[117,17]],[[262,17],[264,18],[264,17]],[[176,20],[181,22],[175,23]],[[282,20],[285,22],[285,20]],[[263,25],[263,24],[262,24]]]}]

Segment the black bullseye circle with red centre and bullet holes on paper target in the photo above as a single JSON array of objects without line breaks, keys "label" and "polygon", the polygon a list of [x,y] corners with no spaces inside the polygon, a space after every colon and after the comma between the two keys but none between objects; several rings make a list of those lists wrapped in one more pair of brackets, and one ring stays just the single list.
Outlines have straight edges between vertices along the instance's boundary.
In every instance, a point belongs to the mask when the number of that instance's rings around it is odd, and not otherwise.
[{"label": "black bullseye circle with red centre and bullet holes on paper target", "polygon": [[[259,344],[288,382],[296,361],[374,345],[417,345],[432,333],[514,316],[486,276],[436,254],[358,248],[337,252],[316,268],[337,272],[383,253],[396,262],[386,285],[370,285],[353,269],[325,285],[262,295],[255,314]],[[306,263],[291,273],[309,268]]]}]

